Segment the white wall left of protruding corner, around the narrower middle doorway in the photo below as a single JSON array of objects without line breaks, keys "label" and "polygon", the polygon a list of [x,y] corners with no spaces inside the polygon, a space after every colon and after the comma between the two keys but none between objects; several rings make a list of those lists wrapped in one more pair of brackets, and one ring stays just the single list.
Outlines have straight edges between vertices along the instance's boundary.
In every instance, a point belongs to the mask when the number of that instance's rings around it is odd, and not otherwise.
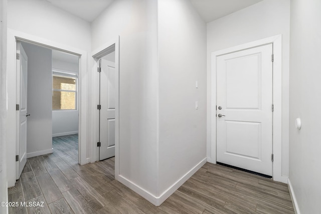
[{"label": "white wall left of protruding corner, around the narrower middle doorway", "polygon": [[[93,50],[120,36],[119,174],[153,195],[158,177],[156,16],[156,1],[117,0],[91,25]],[[96,84],[93,79],[92,89]],[[96,112],[95,94],[90,99]],[[96,124],[97,117],[92,118]]]}]

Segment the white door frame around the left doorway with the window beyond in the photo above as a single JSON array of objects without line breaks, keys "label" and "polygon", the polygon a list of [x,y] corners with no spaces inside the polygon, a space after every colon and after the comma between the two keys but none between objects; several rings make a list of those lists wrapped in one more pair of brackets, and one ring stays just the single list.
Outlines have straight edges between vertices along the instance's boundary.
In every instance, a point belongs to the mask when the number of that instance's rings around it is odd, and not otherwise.
[{"label": "white door frame around the left doorway with the window beyond", "polygon": [[14,186],[16,182],[16,51],[17,41],[28,42],[34,45],[49,49],[56,49],[79,56],[79,152],[78,162],[83,165],[89,163],[90,158],[87,153],[87,52],[68,45],[46,40],[37,36],[8,29],[7,37],[7,175],[8,187]]}]

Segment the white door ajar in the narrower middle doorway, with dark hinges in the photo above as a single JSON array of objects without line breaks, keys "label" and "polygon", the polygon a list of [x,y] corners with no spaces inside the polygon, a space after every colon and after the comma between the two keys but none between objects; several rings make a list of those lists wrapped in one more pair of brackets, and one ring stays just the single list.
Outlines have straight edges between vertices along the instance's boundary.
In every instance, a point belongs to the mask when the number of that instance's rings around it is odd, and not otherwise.
[{"label": "white door ajar in the narrower middle doorway, with dark hinges", "polygon": [[115,63],[102,58],[100,72],[100,160],[115,156],[115,72]]}]

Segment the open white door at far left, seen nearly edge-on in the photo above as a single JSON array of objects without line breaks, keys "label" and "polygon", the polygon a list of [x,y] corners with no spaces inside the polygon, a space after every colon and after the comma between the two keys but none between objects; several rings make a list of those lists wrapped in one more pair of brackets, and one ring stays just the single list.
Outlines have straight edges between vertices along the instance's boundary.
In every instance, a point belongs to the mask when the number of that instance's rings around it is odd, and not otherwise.
[{"label": "open white door at far left, seen nearly edge-on", "polygon": [[27,88],[28,57],[21,43],[17,42],[16,179],[19,179],[27,162]]}]

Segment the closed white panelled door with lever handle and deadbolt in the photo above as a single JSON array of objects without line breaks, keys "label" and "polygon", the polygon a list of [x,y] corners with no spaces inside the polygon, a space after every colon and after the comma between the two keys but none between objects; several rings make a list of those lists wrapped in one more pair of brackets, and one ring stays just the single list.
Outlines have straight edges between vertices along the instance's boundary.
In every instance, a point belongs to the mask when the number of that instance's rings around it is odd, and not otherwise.
[{"label": "closed white panelled door with lever handle and deadbolt", "polygon": [[217,57],[217,162],[272,176],[272,44]]}]

